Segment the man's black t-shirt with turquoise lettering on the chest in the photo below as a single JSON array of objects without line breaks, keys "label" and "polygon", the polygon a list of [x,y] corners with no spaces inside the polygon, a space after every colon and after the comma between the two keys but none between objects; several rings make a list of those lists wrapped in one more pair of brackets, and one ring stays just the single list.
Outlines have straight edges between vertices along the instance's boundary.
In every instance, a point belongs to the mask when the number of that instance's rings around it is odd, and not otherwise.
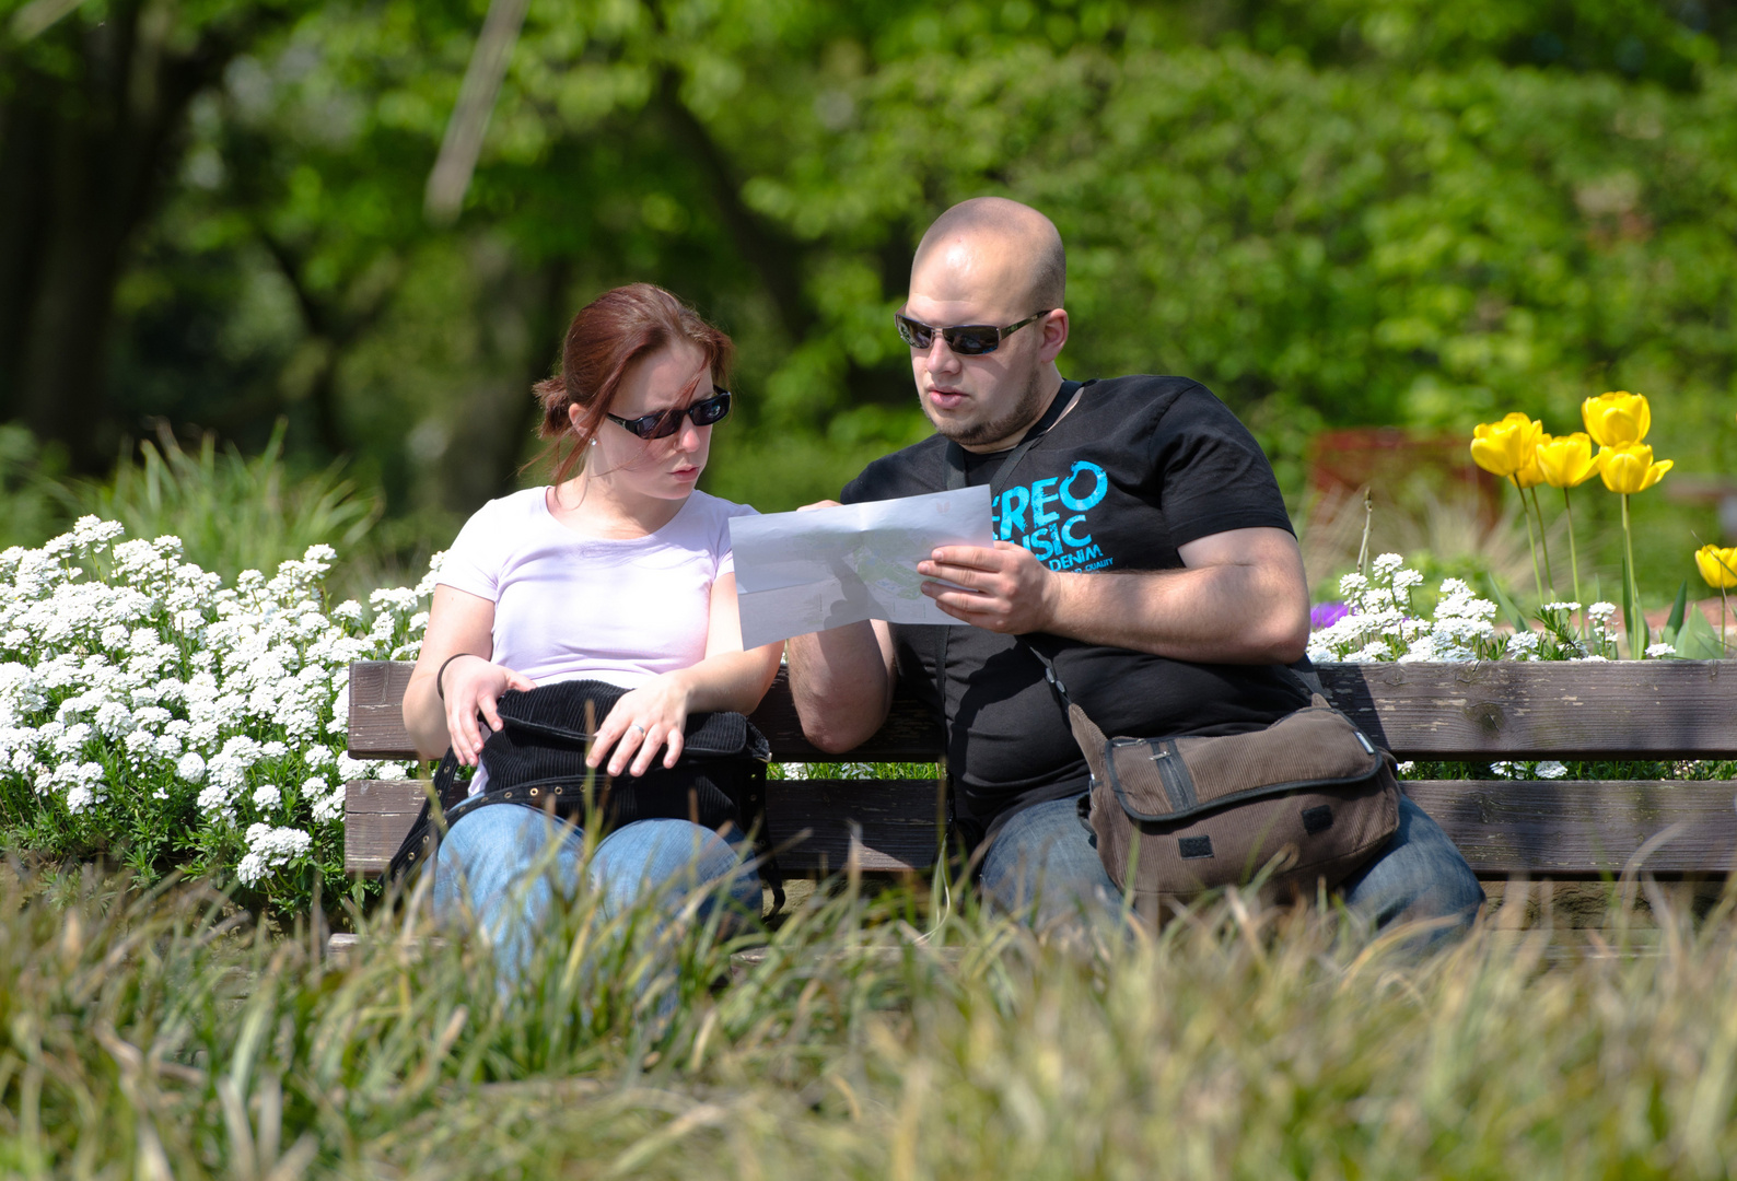
[{"label": "man's black t-shirt with turquoise lettering on the chest", "polygon": [[[1087,382],[1073,410],[997,476],[1002,459],[968,452],[966,483],[994,478],[995,537],[1051,570],[1176,570],[1178,547],[1202,537],[1291,530],[1254,436],[1181,377]],[[947,488],[947,439],[936,434],[870,464],[841,498],[915,497]],[[994,834],[1018,808],[1086,790],[1086,761],[1042,665],[1011,636],[895,623],[907,688],[943,705],[943,641],[947,764],[971,816]],[[1072,698],[1110,735],[1244,733],[1308,703],[1273,665],[1192,663],[1044,634],[1027,641],[1054,660]]]}]

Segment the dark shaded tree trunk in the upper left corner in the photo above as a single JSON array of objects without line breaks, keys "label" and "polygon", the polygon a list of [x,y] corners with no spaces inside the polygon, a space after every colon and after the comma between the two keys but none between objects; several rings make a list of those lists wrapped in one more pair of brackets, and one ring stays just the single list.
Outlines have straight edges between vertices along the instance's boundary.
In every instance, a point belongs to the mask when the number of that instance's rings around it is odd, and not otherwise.
[{"label": "dark shaded tree trunk in the upper left corner", "polygon": [[281,12],[201,30],[141,21],[118,0],[102,21],[64,17],[0,68],[0,417],[104,469],[130,424],[106,389],[115,287],[127,248],[181,162],[193,97]]}]

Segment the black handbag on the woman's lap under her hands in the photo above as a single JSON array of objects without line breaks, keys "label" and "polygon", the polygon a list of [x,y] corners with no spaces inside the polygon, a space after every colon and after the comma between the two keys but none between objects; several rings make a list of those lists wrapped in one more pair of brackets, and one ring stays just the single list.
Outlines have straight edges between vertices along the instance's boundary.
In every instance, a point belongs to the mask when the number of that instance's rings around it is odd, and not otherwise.
[{"label": "black handbag on the woman's lap under her hands", "polygon": [[398,879],[429,861],[439,835],[478,808],[519,804],[575,823],[584,823],[596,808],[604,828],[672,818],[754,835],[761,879],[782,905],[782,875],[766,835],[771,761],[766,736],[742,714],[690,714],[674,768],[658,759],[641,776],[610,776],[603,768],[585,766],[585,750],[598,722],[624,693],[604,681],[561,681],[502,693],[497,702],[502,726],[483,742],[488,788],[469,795],[469,782],[459,780],[459,759],[448,750],[434,773],[439,816],[429,802],[422,804],[387,877]]}]

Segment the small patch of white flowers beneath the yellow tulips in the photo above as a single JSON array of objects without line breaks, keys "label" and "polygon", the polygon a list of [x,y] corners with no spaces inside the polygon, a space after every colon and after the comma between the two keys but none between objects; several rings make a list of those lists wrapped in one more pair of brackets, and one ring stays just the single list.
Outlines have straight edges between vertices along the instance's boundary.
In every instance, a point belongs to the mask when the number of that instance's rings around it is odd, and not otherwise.
[{"label": "small patch of white flowers beneath the yellow tulips", "polygon": [[[1331,613],[1310,632],[1313,662],[1344,660],[1610,660],[1617,655],[1610,632],[1612,603],[1586,610],[1582,637],[1574,623],[1579,603],[1546,603],[1537,613],[1541,630],[1496,625],[1496,603],[1459,578],[1442,582],[1433,618],[1416,604],[1423,575],[1405,566],[1398,554],[1381,554],[1369,573],[1339,580],[1344,610]],[[1650,653],[1652,655],[1652,653]]]}]

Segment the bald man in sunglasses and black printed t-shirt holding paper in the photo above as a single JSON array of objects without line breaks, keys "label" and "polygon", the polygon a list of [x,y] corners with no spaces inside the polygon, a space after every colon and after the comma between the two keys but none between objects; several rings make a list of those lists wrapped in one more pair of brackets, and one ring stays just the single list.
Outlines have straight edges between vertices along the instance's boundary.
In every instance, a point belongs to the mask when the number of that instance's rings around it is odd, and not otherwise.
[{"label": "bald man in sunglasses and black printed t-shirt holding paper", "polygon": [[[1113,915],[1120,898],[1080,818],[1086,761],[1014,636],[1112,735],[1242,733],[1308,703],[1278,667],[1304,653],[1308,585],[1266,457],[1199,382],[1065,382],[1065,278],[1056,228],[1016,201],[964,201],[922,236],[898,330],[936,434],[842,495],[992,483],[995,547],[917,566],[936,580],[924,594],[971,627],[853,623],[789,656],[802,728],[829,752],[881,728],[895,679],[935,703],[983,887],[1040,926]],[[1470,922],[1483,891],[1403,801],[1344,898],[1376,924]]]}]

